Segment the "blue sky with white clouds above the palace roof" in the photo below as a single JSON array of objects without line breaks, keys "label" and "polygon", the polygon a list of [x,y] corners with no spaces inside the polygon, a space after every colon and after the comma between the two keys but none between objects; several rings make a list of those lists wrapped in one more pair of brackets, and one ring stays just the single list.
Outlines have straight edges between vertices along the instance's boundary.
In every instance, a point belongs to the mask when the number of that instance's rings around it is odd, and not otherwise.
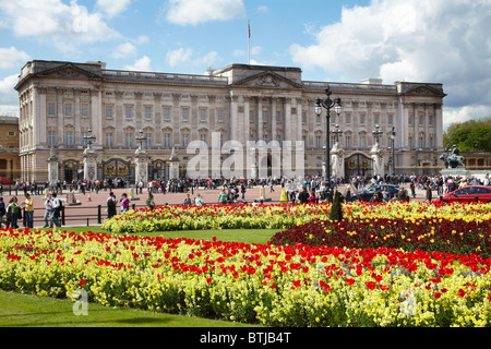
[{"label": "blue sky with white clouds above the palace roof", "polygon": [[0,112],[28,60],[203,74],[248,63],[303,80],[442,83],[444,124],[491,116],[491,0],[0,0]]}]

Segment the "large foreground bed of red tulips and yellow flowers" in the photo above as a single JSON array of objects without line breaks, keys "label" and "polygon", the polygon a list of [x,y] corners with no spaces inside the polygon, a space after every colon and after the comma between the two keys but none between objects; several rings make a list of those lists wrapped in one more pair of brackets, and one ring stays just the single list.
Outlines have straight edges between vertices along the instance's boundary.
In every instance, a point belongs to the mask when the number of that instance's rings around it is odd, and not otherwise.
[{"label": "large foreground bed of red tulips and yellow flowers", "polygon": [[0,288],[272,326],[490,326],[491,258],[0,230]]}]

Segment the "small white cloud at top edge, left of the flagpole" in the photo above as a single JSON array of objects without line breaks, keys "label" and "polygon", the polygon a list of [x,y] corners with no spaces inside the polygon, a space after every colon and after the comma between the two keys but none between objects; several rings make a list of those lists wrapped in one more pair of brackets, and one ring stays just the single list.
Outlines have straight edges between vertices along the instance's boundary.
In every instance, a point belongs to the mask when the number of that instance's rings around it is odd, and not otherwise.
[{"label": "small white cloud at top edge, left of the flagpole", "polygon": [[166,19],[179,25],[228,21],[244,13],[242,0],[169,0]]}]

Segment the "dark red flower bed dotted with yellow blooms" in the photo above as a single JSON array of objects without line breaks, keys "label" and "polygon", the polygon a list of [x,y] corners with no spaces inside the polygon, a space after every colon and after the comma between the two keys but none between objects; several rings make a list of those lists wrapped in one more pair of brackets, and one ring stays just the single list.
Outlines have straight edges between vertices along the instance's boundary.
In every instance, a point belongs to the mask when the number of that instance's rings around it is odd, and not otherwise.
[{"label": "dark red flower bed dotted with yellow blooms", "polygon": [[443,218],[352,218],[315,220],[276,233],[273,244],[393,248],[491,257],[491,220]]}]

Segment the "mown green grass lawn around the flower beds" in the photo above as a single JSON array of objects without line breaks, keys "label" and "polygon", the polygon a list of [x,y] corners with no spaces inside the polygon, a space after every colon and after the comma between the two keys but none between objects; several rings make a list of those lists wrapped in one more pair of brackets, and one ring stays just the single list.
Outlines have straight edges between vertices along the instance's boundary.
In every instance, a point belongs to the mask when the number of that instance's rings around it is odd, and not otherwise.
[{"label": "mown green grass lawn around the flower beds", "polygon": [[[99,227],[62,228],[67,231],[106,232]],[[165,238],[191,238],[246,243],[266,243],[276,229],[264,230],[190,230],[146,233]],[[155,313],[137,309],[107,308],[89,303],[87,315],[75,315],[75,303],[0,290],[0,327],[236,327],[255,326],[182,315]]]}]

